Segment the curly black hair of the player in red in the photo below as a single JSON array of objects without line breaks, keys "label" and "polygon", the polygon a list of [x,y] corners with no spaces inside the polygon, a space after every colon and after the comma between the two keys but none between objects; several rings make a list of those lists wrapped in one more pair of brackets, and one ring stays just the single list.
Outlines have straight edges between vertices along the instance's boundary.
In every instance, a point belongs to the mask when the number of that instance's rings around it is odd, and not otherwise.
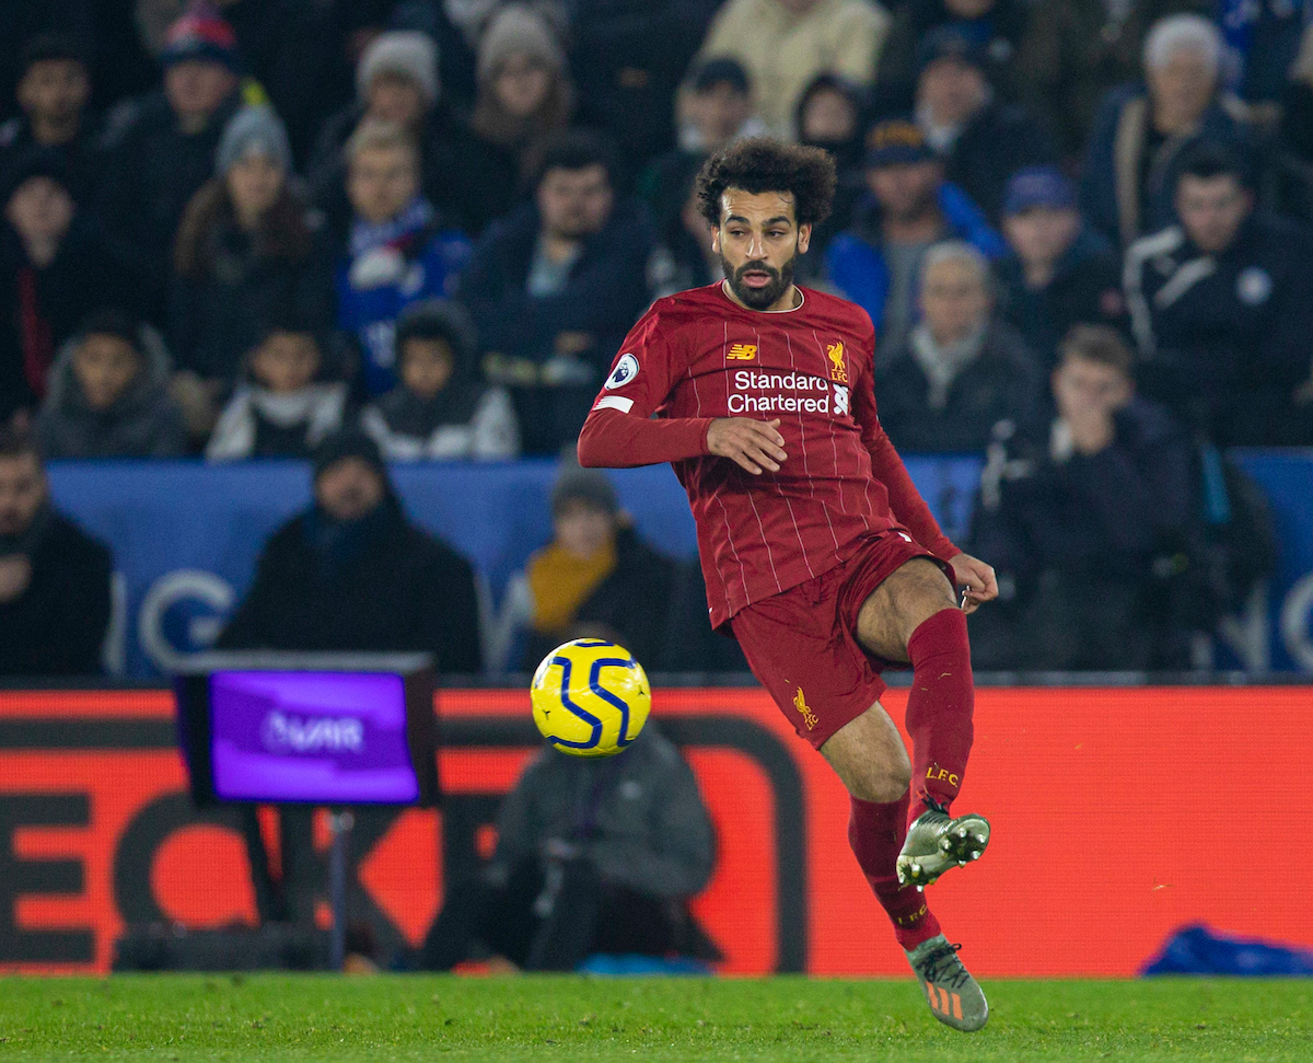
[{"label": "curly black hair of the player in red", "polygon": [[788,192],[793,196],[797,223],[819,225],[830,217],[835,180],[834,159],[823,148],[750,137],[712,155],[695,188],[702,217],[717,229],[726,188],[741,188],[754,196]]}]

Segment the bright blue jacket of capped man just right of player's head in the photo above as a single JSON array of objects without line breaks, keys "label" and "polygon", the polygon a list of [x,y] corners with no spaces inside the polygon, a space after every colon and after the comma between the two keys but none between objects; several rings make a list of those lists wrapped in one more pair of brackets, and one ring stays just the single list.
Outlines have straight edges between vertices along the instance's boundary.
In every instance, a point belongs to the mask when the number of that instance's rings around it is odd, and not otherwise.
[{"label": "bright blue jacket of capped man just right of player's head", "polygon": [[[939,209],[949,230],[945,239],[966,240],[989,259],[1007,252],[985,212],[957,185],[945,181],[939,187]],[[889,264],[880,244],[880,204],[874,196],[868,196],[857,209],[857,223],[831,240],[825,263],[830,281],[871,314],[878,335],[889,298]]]}]

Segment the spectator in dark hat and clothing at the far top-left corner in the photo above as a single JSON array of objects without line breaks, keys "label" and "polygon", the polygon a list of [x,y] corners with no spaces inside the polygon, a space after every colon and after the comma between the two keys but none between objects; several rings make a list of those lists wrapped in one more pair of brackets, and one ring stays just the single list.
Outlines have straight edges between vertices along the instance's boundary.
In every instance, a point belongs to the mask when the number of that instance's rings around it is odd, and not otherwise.
[{"label": "spectator in dark hat and clothing at the far top-left corner", "polygon": [[33,147],[50,148],[60,156],[76,198],[87,201],[100,176],[100,152],[87,113],[91,74],[83,50],[63,37],[29,41],[16,96],[22,114],[0,125],[0,170]]}]

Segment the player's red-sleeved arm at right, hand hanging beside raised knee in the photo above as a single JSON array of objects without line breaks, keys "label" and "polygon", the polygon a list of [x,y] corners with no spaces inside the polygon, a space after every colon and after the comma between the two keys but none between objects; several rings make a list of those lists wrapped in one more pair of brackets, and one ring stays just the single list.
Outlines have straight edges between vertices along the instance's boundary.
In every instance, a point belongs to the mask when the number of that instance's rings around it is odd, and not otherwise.
[{"label": "player's red-sleeved arm at right, hand hanging beside raised knee", "polygon": [[[874,330],[871,332],[871,346],[874,351]],[[983,602],[998,598],[998,579],[994,569],[964,553],[944,535],[935,515],[913,484],[907,466],[894,449],[893,441],[885,434],[876,413],[876,392],[873,357],[865,361],[852,389],[852,417],[861,427],[861,441],[871,453],[871,468],[889,491],[889,507],[894,516],[918,543],[953,566],[957,583],[965,589],[962,608],[974,612]]]}]

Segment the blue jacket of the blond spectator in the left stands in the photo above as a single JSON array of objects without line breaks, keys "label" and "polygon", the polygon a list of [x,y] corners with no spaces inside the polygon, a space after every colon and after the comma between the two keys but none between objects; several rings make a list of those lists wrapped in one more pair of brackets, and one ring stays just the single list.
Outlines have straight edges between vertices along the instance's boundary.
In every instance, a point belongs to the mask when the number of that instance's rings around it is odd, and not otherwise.
[{"label": "blue jacket of the blond spectator in the left stands", "polygon": [[[418,247],[415,246],[418,244]],[[387,252],[394,255],[389,260]],[[381,396],[397,385],[393,339],[402,310],[420,300],[453,294],[470,255],[470,242],[454,230],[421,229],[411,243],[374,248],[337,263],[337,325],[360,342],[365,390]]]}]

